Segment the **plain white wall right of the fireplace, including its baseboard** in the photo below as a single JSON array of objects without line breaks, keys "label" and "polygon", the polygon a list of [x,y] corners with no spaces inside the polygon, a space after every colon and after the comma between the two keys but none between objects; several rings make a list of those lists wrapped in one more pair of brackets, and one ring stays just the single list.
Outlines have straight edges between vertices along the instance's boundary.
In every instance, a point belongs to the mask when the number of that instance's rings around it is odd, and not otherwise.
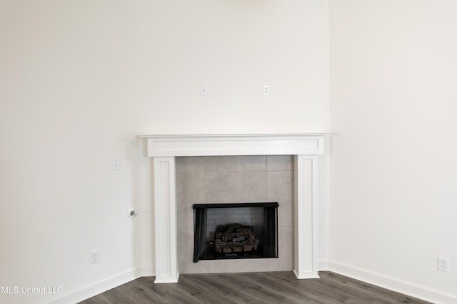
[{"label": "plain white wall right of the fireplace, including its baseboard", "polygon": [[[456,1],[330,1],[331,269],[457,303]],[[455,265],[453,265],[455,266]]]}]

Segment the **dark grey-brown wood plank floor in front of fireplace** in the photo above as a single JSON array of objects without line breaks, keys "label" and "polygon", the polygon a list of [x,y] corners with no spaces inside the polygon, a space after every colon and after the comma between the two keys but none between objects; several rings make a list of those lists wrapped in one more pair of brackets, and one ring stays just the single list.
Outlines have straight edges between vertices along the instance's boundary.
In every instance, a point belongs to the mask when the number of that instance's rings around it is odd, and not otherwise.
[{"label": "dark grey-brown wood plank floor in front of fireplace", "polygon": [[292,272],[181,275],[179,283],[139,278],[81,304],[114,303],[428,303],[329,271],[297,280]]}]

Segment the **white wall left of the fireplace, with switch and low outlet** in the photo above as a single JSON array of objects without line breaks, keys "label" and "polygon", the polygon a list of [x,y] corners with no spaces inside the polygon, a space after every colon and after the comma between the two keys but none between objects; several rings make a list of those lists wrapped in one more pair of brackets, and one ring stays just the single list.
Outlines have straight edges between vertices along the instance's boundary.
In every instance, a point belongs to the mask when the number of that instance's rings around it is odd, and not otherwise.
[{"label": "white wall left of the fireplace, with switch and low outlet", "polygon": [[[1,1],[0,20],[0,285],[69,295],[133,277],[140,221],[127,211],[149,195],[134,137],[136,6]],[[53,296],[19,289],[0,302]]]}]

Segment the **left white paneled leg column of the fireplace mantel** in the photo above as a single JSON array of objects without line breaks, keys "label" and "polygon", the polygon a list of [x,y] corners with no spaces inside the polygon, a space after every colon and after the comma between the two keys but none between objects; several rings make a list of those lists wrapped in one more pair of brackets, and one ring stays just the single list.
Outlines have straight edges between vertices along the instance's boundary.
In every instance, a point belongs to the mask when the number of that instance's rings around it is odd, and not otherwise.
[{"label": "left white paneled leg column of the fireplace mantel", "polygon": [[174,157],[154,157],[154,227],[156,280],[178,282],[176,251],[176,178]]}]

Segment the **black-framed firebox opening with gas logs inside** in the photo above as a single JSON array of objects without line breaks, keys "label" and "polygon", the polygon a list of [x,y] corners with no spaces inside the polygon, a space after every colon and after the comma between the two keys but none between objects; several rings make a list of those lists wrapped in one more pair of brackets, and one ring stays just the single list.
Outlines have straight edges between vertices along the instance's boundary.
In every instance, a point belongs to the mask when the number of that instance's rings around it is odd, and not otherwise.
[{"label": "black-framed firebox opening with gas logs inside", "polygon": [[194,263],[277,257],[277,202],[194,204]]}]

